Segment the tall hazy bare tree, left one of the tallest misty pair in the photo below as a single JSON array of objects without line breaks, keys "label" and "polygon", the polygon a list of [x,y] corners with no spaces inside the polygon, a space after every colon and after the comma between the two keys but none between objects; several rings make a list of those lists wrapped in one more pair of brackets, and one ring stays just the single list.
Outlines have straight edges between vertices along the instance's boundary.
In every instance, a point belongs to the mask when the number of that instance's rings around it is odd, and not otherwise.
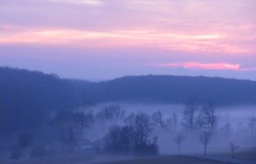
[{"label": "tall hazy bare tree, left one of the tallest misty pair", "polygon": [[190,129],[191,131],[195,128],[195,118],[196,111],[198,108],[197,98],[191,97],[187,102],[185,110],[183,112],[184,122],[183,125],[185,128]]}]

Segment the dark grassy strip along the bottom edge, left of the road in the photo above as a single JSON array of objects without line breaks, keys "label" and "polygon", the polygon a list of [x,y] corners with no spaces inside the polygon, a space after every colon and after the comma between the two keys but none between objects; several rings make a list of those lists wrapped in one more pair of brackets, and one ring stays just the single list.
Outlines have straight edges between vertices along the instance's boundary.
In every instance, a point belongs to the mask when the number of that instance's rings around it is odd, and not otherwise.
[{"label": "dark grassy strip along the bottom edge, left of the road", "polygon": [[180,163],[180,164],[221,164],[223,162],[209,160],[209,159],[199,159],[193,157],[182,157],[182,156],[157,156],[157,157],[128,157],[128,156],[107,156],[107,155],[69,155],[69,156],[55,156],[43,159],[20,159],[20,160],[2,160],[1,163],[5,164],[56,164],[56,163],[66,163],[66,164],[80,164],[80,163],[106,163],[106,164],[167,164],[167,163]]}]

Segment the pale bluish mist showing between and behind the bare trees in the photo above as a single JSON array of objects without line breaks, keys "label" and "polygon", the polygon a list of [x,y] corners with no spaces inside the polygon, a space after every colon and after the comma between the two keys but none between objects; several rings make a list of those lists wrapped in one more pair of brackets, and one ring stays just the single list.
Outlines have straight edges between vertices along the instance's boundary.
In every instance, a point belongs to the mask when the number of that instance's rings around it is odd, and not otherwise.
[{"label": "pale bluish mist showing between and behind the bare trees", "polygon": [[[84,112],[93,111],[97,113],[101,108],[112,105],[119,106],[125,110],[125,115],[145,112],[151,118],[154,113],[160,112],[165,122],[165,127],[155,125],[154,136],[158,138],[158,149],[160,154],[202,154],[204,145],[200,142],[199,136],[205,129],[198,128],[187,130],[184,127],[184,104],[151,104],[151,103],[104,103],[91,108],[82,109]],[[195,111],[195,122],[203,105],[197,107]],[[172,118],[176,115],[176,128],[174,128]],[[212,131],[209,143],[209,153],[229,152],[230,143],[235,143],[240,149],[251,149],[256,147],[256,106],[220,106],[216,107],[215,113],[216,125]],[[197,123],[195,123],[197,124]],[[106,135],[108,128],[113,125],[123,126],[122,120],[104,120],[99,121],[86,132],[85,138],[101,139]],[[182,135],[184,140],[180,145],[178,152],[176,145],[176,136]]]}]

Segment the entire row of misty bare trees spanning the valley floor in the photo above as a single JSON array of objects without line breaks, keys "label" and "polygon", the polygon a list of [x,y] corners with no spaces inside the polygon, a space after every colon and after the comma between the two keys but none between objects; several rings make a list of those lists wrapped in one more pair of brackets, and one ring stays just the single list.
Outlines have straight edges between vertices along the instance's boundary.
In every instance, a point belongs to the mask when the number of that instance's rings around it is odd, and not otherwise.
[{"label": "entire row of misty bare trees spanning the valley floor", "polygon": [[[246,127],[237,129],[228,121],[220,124],[217,106],[213,103],[200,104],[195,98],[187,101],[183,112],[173,112],[168,116],[160,110],[152,114],[132,113],[117,105],[94,111],[63,110],[49,118],[44,127],[17,133],[7,151],[11,159],[88,151],[156,155],[159,137],[167,136],[165,145],[176,147],[179,154],[187,143],[187,150],[192,151],[194,147],[189,145],[196,143],[207,155],[209,145],[224,142],[234,157],[236,150],[242,147],[242,140],[255,145],[256,118],[245,118],[243,124]],[[97,130],[100,134],[89,138]]]}]

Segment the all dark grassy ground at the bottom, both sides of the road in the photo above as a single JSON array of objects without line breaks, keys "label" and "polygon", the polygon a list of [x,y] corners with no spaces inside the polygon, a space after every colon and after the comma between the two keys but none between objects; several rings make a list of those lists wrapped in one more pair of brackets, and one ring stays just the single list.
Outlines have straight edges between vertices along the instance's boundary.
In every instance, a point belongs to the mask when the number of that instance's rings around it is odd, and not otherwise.
[{"label": "all dark grassy ground at the bottom, both sides of the road", "polygon": [[[212,157],[224,157],[230,158],[228,153],[222,154],[212,154]],[[256,149],[244,149],[240,150],[235,154],[236,159],[247,159],[254,160],[256,162]],[[137,157],[137,156],[114,156],[107,154],[95,154],[95,153],[77,153],[72,155],[49,155],[45,158],[41,159],[30,159],[23,158],[19,160],[0,158],[0,163],[2,164],[80,164],[80,163],[107,163],[107,164],[165,164],[165,163],[179,163],[179,164],[220,164],[224,162],[219,162],[217,160],[211,159],[200,159],[197,157],[187,157],[187,156],[174,156],[174,155],[163,155],[163,156],[155,156],[155,157]]]}]

